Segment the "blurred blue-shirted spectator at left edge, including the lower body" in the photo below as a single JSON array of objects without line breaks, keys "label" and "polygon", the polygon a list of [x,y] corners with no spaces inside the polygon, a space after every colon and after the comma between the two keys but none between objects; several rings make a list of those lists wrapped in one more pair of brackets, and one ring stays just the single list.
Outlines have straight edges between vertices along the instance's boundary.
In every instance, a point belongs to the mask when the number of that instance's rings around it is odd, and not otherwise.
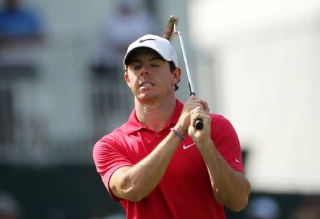
[{"label": "blurred blue-shirted spectator at left edge, including the lower body", "polygon": [[14,92],[18,78],[36,77],[35,45],[43,39],[41,19],[19,0],[0,9],[0,145],[14,140]]}]

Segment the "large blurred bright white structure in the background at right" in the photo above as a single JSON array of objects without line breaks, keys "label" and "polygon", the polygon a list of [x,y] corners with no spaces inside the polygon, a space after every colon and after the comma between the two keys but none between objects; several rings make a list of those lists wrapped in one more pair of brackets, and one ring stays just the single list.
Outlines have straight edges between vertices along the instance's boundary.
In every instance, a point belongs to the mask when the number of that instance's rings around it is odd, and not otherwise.
[{"label": "large blurred bright white structure in the background at right", "polygon": [[320,1],[202,0],[189,11],[198,94],[235,126],[252,188],[320,193]]}]

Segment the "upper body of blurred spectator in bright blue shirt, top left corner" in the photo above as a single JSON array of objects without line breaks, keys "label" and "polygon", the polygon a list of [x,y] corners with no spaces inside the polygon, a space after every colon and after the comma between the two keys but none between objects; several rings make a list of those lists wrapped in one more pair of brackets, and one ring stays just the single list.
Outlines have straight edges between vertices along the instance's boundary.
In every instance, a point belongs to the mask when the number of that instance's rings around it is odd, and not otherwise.
[{"label": "upper body of blurred spectator in bright blue shirt, top left corner", "polygon": [[34,74],[34,60],[28,51],[42,39],[43,27],[36,12],[19,0],[5,0],[0,11],[0,67],[6,71],[1,74],[16,77],[12,74],[25,74],[26,70]]}]

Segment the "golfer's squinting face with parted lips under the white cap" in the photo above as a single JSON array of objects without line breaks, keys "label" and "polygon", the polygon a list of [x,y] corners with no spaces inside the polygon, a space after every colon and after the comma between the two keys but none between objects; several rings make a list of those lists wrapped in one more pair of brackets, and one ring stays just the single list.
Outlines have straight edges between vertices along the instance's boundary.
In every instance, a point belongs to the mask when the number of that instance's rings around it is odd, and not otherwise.
[{"label": "golfer's squinting face with parted lips under the white cap", "polygon": [[137,50],[129,59],[124,78],[135,99],[141,103],[164,101],[174,95],[174,84],[181,76],[181,69],[170,71],[169,62],[148,48]]}]

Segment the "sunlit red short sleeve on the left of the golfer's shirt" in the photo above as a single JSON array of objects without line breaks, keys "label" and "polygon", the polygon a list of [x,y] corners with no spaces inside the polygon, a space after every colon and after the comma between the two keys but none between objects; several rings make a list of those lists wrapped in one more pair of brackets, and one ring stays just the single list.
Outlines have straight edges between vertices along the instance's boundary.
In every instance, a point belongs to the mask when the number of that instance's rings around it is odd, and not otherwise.
[{"label": "sunlit red short sleeve on the left of the golfer's shirt", "polygon": [[117,169],[125,166],[133,166],[133,163],[124,155],[121,146],[117,145],[116,141],[112,140],[111,137],[107,137],[107,135],[95,144],[93,148],[93,160],[97,172],[100,174],[110,196],[114,200],[120,201],[121,198],[114,196],[112,193],[109,181]]}]

